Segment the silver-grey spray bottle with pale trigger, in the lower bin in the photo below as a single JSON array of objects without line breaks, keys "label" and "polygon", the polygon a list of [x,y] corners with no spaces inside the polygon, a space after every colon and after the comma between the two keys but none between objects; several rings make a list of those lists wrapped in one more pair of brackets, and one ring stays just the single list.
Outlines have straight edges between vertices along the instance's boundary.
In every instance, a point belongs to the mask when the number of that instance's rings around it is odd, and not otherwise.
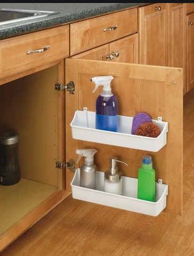
[{"label": "silver-grey spray bottle with pale trigger, in the lower bin", "polygon": [[85,164],[80,167],[80,187],[96,189],[96,172],[97,167],[94,164],[95,149],[77,149],[76,154],[79,155],[77,163],[82,156],[85,156]]}]

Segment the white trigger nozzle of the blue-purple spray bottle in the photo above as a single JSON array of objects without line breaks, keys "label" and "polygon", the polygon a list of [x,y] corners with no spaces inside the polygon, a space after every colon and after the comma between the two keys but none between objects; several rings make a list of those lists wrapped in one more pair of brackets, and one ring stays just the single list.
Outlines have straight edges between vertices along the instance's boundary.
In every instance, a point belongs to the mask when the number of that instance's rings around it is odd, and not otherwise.
[{"label": "white trigger nozzle of the blue-purple spray bottle", "polygon": [[111,93],[111,81],[113,78],[113,76],[95,76],[90,78],[90,82],[95,83],[95,89],[92,92],[95,93],[98,86],[102,85],[104,94]]}]

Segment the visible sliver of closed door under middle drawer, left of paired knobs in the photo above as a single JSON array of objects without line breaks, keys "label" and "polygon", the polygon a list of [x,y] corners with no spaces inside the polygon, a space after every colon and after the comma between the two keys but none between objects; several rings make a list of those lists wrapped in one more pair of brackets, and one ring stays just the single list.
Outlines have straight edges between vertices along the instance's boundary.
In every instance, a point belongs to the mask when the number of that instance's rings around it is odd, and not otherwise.
[{"label": "visible sliver of closed door under middle drawer, left of paired knobs", "polygon": [[74,55],[73,59],[82,59],[82,60],[108,60],[106,55],[109,54],[109,45],[105,44],[103,46],[96,47],[95,49],[79,53]]}]

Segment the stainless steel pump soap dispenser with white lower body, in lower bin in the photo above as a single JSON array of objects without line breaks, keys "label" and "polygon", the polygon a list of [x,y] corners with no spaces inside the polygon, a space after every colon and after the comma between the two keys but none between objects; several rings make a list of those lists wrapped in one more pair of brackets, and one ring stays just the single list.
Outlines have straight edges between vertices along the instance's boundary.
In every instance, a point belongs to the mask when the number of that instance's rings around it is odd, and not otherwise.
[{"label": "stainless steel pump soap dispenser with white lower body, in lower bin", "polygon": [[126,164],[125,162],[117,160],[116,157],[110,158],[109,171],[104,174],[104,191],[116,195],[122,194],[122,173],[118,171],[117,162]]}]

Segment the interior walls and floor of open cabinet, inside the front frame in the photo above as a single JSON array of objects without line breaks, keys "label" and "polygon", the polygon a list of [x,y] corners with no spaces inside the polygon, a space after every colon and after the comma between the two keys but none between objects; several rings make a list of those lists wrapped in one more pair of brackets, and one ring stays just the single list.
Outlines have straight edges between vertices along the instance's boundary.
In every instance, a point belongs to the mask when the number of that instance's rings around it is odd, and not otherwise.
[{"label": "interior walls and floor of open cabinet, inside the front frame", "polygon": [[19,135],[22,177],[0,186],[1,234],[58,190],[57,82],[56,65],[0,86],[0,129]]}]

